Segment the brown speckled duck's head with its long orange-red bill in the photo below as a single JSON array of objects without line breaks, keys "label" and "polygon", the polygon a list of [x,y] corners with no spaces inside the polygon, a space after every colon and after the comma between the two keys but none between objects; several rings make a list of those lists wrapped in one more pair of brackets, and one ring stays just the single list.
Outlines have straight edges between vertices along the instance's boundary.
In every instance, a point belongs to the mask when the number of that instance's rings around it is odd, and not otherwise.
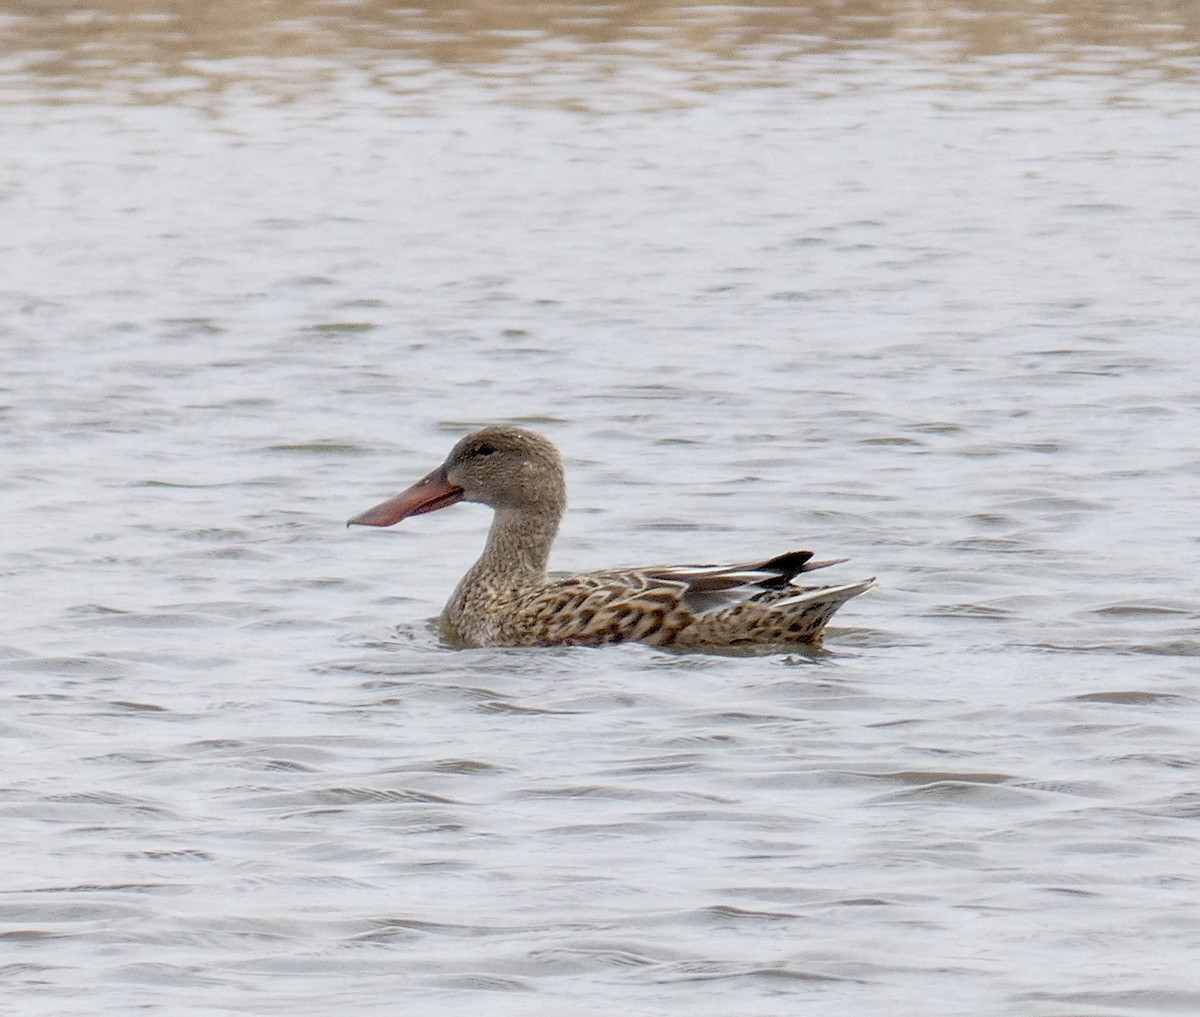
[{"label": "brown speckled duck's head with its long orange-red bill", "polygon": [[550,439],[521,427],[485,427],[455,445],[433,473],[355,516],[347,525],[390,526],[458,501],[557,518],[566,504],[558,449]]}]

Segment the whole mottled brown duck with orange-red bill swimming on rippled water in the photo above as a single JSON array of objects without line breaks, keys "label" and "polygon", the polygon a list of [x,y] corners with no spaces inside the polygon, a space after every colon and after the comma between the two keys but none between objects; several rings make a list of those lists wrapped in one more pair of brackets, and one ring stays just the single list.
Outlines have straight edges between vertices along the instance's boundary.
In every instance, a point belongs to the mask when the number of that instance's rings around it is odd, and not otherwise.
[{"label": "whole mottled brown duck with orange-red bill swimming on rippled water", "polygon": [[493,512],[484,553],[442,614],[460,646],[644,643],[672,650],[821,646],[848,600],[875,585],[800,585],[797,576],[846,559],[788,550],[737,565],[652,565],[552,576],[551,547],[566,508],[563,457],[546,437],[493,425],[458,441],[445,462],[347,525],[391,526],[460,501]]}]

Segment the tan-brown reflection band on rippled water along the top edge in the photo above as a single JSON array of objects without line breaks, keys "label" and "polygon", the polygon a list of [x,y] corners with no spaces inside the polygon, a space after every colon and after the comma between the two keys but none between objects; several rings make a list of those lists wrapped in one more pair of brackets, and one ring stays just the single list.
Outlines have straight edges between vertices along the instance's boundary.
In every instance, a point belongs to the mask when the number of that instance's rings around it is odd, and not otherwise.
[{"label": "tan-brown reflection band on rippled water along the top edge", "polygon": [[[320,83],[314,61],[379,72],[398,90],[438,68],[529,79],[564,65],[613,74],[647,60],[698,86],[769,84],[772,65],[778,71],[791,56],[863,47],[899,47],[946,64],[1013,56],[1172,78],[1200,68],[1200,5],[1151,0],[182,0],[170,10],[157,0],[84,7],[25,0],[7,6],[0,26],[10,79],[60,100],[114,89],[162,101],[244,79],[305,90]],[[269,70],[256,62],[264,58],[275,61]],[[751,67],[749,79],[725,77]]]}]

